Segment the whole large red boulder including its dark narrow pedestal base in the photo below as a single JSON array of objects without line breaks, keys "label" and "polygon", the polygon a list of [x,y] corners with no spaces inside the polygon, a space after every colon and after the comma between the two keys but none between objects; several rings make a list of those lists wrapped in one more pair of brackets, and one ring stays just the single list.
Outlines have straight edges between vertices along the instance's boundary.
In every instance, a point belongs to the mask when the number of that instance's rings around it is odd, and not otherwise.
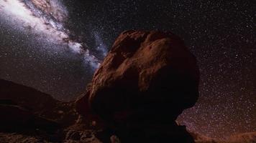
[{"label": "whole large red boulder including its dark narrow pedestal base", "polygon": [[121,142],[193,142],[175,119],[196,103],[198,79],[196,58],[178,36],[125,31],[76,108],[98,114]]}]

